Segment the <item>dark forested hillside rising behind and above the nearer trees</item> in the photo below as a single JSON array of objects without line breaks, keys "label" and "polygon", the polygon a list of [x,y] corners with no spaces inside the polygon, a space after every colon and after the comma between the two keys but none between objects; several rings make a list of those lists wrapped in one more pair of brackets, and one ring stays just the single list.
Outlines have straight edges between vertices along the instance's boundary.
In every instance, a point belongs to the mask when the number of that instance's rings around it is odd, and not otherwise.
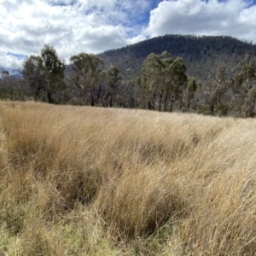
[{"label": "dark forested hillside rising behind and above the nearer trees", "polygon": [[[173,57],[180,56],[188,67],[189,76],[195,76],[201,83],[214,78],[218,65],[235,73],[237,65],[245,55],[256,55],[256,45],[224,36],[181,36],[166,35],[128,45],[121,49],[108,50],[100,55],[106,66],[115,65],[123,77],[134,79],[150,53],[160,55],[168,51]],[[129,69],[129,71],[126,71]],[[130,70],[131,69],[131,70]]]}]

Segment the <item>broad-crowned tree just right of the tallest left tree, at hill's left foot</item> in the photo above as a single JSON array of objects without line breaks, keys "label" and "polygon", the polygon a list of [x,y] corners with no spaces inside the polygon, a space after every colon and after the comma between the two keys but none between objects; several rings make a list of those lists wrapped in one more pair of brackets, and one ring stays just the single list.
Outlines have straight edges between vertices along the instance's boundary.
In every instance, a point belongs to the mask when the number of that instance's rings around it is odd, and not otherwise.
[{"label": "broad-crowned tree just right of the tallest left tree, at hill's left foot", "polygon": [[80,53],[70,58],[73,62],[75,76],[73,81],[79,89],[81,97],[90,94],[90,105],[95,105],[95,90],[99,83],[100,74],[104,67],[104,61],[97,55]]}]

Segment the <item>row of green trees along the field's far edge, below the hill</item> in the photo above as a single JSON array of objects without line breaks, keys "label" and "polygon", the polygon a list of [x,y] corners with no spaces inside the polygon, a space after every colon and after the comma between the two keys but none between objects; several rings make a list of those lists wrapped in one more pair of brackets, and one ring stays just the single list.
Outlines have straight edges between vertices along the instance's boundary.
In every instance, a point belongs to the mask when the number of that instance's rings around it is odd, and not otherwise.
[{"label": "row of green trees along the field's far edge, below the hill", "polygon": [[[31,55],[19,74],[1,72],[0,97],[104,108],[148,108],[253,117],[256,113],[255,58],[247,55],[230,72],[223,62],[212,67],[212,79],[189,76],[182,57],[167,51],[150,53],[139,72],[108,65],[99,55],[79,53],[72,65],[45,44]],[[127,60],[129,61],[129,60]],[[131,60],[130,60],[131,61]]]}]

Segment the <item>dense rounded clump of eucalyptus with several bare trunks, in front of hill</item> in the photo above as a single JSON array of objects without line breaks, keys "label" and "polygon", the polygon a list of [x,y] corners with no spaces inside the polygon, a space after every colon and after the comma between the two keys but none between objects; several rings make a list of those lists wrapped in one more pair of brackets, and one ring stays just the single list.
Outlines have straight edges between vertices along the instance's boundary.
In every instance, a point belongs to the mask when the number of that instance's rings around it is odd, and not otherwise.
[{"label": "dense rounded clump of eucalyptus with several bare trunks, in front of hill", "polygon": [[182,58],[172,60],[172,56],[166,51],[161,55],[154,53],[148,55],[143,62],[141,77],[138,80],[143,95],[147,96],[148,109],[154,109],[154,102],[158,98],[158,109],[161,111],[164,96],[164,111],[167,109],[169,100],[171,100],[170,111],[172,111],[173,103],[182,99],[187,83],[186,70]]}]

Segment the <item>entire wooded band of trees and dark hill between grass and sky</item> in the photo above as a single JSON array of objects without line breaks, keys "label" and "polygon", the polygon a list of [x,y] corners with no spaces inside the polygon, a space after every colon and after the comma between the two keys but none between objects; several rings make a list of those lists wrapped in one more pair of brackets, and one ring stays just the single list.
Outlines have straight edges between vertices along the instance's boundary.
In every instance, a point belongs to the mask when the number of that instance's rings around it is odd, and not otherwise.
[{"label": "entire wooded band of trees and dark hill between grass and sky", "polygon": [[2,69],[0,97],[55,104],[214,115],[256,114],[256,45],[231,37],[166,35],[79,53],[66,66],[45,44],[16,75]]}]

